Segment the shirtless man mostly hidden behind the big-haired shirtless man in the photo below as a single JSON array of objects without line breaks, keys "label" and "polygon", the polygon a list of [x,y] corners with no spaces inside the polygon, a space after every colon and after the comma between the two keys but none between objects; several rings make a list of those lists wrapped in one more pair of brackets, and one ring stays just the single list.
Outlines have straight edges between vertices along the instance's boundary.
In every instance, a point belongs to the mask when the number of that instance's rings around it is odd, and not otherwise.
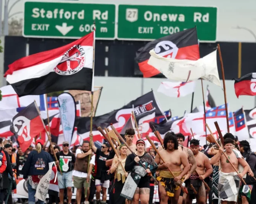
[{"label": "shirtless man mostly hidden behind the big-haired shirtless man", "polygon": [[[196,166],[196,159],[194,158],[194,155],[193,155],[193,152],[191,151],[191,149],[183,147],[183,143],[185,141],[185,136],[181,133],[178,133],[178,134],[176,134],[176,137],[177,137],[177,141],[178,141],[178,144],[179,144],[178,149],[180,149],[181,151],[183,151],[186,154],[188,162],[191,164],[190,165],[191,166],[190,171],[187,173],[187,175],[184,178],[183,182],[185,182],[186,180],[188,180],[190,175],[196,170],[196,167],[197,167]],[[187,194],[183,193],[183,191],[180,191],[180,198],[179,198],[178,204],[182,204],[182,203],[186,204],[186,197],[187,197]]]}]

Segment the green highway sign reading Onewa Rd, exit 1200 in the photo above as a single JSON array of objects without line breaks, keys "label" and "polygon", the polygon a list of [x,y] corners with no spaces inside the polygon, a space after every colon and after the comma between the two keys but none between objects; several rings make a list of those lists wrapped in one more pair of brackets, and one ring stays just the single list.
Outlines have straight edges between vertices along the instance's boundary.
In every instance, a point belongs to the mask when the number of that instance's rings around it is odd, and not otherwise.
[{"label": "green highway sign reading Onewa Rd, exit 1200", "polygon": [[188,6],[118,6],[120,40],[152,40],[196,26],[198,39],[216,41],[217,8]]}]

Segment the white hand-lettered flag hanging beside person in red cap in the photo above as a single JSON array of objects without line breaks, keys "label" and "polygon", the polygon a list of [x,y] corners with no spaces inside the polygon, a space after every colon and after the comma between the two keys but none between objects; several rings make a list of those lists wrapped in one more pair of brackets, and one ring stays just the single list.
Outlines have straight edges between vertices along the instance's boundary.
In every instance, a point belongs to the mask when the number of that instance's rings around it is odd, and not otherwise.
[{"label": "white hand-lettered flag hanging beside person in red cap", "polygon": [[[50,185],[50,180],[51,180],[51,175],[52,175],[52,165],[56,164],[55,162],[50,162],[49,163],[49,170],[47,171],[47,173],[41,178],[41,180],[39,181],[37,188],[36,188],[36,195],[35,197],[38,198],[39,200],[45,201],[46,200],[46,195],[48,193],[48,189],[49,189],[49,185]],[[56,182],[57,179],[57,174],[55,175],[55,181]]]}]

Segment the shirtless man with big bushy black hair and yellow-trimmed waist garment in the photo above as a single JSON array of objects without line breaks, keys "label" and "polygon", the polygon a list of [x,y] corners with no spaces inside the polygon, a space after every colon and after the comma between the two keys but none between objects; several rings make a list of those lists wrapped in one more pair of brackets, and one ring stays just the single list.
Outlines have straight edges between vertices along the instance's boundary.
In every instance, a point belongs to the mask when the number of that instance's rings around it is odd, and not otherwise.
[{"label": "shirtless man with big bushy black hair and yellow-trimmed waist garment", "polygon": [[[183,182],[184,176],[190,170],[190,165],[184,152],[178,150],[178,141],[173,132],[165,134],[164,149],[159,153],[166,162],[163,163],[158,154],[155,156],[155,162],[160,164],[158,165],[158,170],[160,171],[157,180],[161,183],[159,185],[161,204],[167,204],[169,197],[171,197],[171,203],[178,203],[181,191],[178,184]],[[184,167],[183,170],[181,165]],[[175,178],[171,175],[168,167],[175,175]]]}]

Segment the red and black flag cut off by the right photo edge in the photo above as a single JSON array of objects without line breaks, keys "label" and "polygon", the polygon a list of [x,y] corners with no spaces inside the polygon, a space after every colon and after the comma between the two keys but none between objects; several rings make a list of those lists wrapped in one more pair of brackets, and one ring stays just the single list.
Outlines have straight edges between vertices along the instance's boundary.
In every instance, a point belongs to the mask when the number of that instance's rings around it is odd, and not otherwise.
[{"label": "red and black flag cut off by the right photo edge", "polygon": [[256,96],[256,73],[249,73],[233,80],[237,98],[241,95]]}]

